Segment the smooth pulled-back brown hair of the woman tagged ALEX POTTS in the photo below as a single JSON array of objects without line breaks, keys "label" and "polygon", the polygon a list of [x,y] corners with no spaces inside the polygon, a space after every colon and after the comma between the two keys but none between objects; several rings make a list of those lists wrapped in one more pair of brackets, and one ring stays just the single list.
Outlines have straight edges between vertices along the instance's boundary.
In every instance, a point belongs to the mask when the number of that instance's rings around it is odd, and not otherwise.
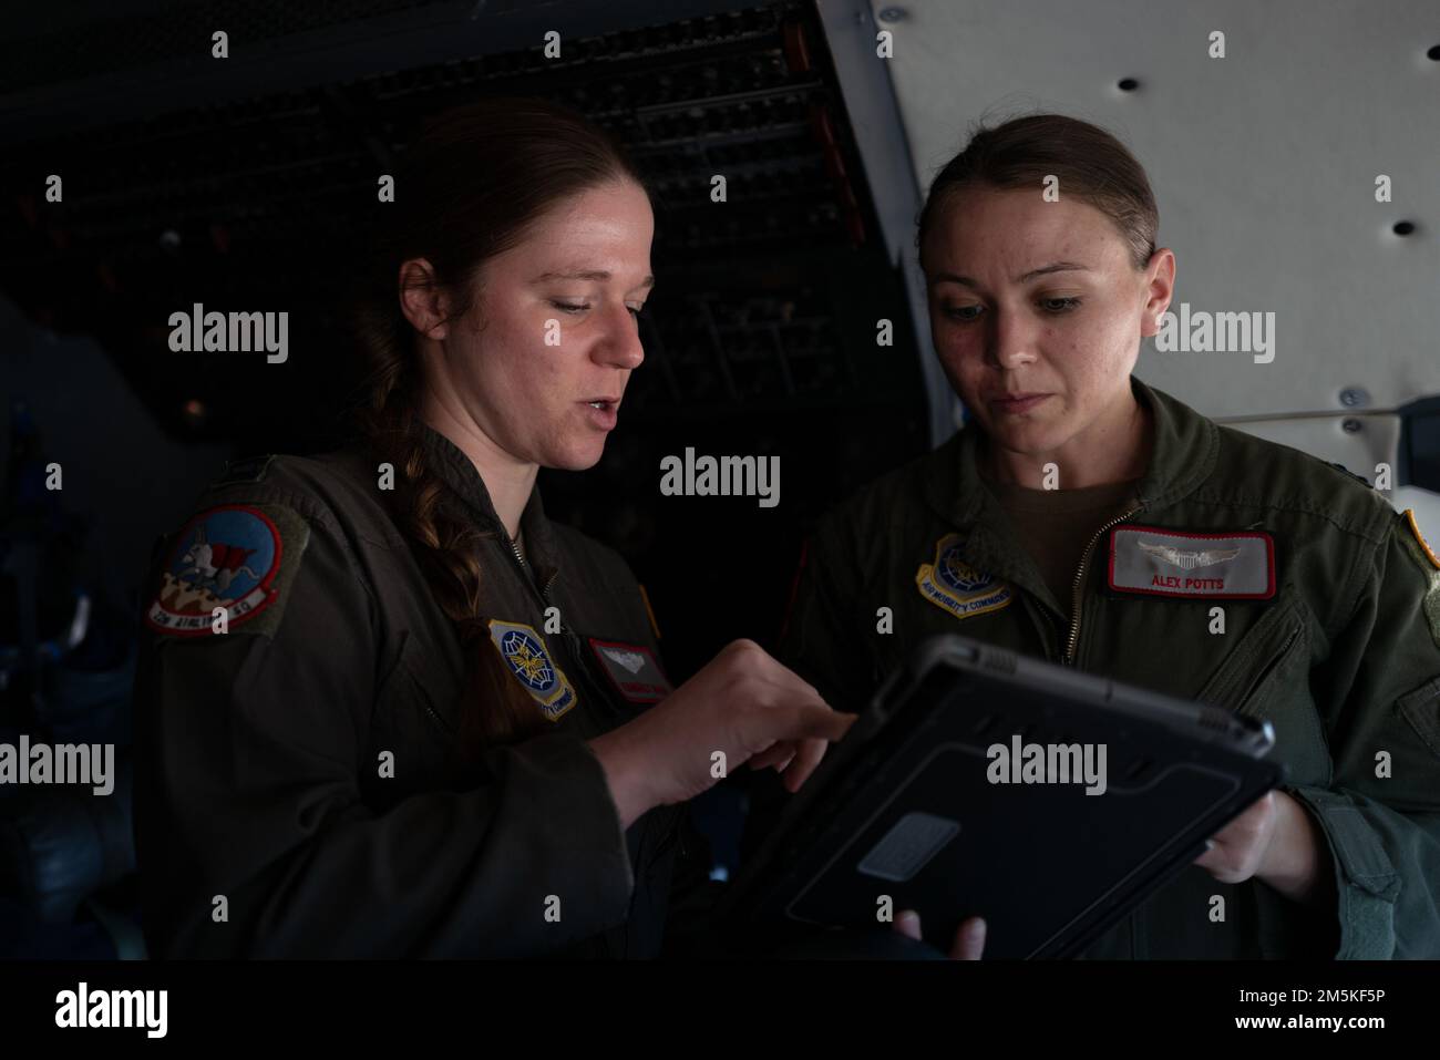
[{"label": "smooth pulled-back brown hair of the woman tagged ALEX POTTS", "polygon": [[982,122],[930,184],[916,239],[924,245],[935,217],[960,189],[1038,189],[1048,176],[1060,179],[1063,194],[1094,206],[1115,223],[1136,269],[1149,264],[1161,215],[1145,167],[1099,125],[1063,114],[1031,114],[994,128]]}]

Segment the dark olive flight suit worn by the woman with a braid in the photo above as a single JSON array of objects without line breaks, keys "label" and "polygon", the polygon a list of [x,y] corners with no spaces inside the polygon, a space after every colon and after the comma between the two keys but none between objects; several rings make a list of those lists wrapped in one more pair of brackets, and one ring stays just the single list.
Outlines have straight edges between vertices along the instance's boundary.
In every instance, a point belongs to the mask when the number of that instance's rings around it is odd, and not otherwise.
[{"label": "dark olive flight suit worn by the woman with a braid", "polygon": [[521,557],[475,467],[423,431],[445,503],[487,534],[480,614],[553,730],[459,753],[459,638],[373,457],[232,470],[157,552],[145,612],[154,955],[651,956],[708,903],[685,808],[622,830],[586,745],[670,691],[629,567],[550,523],[539,491]]}]

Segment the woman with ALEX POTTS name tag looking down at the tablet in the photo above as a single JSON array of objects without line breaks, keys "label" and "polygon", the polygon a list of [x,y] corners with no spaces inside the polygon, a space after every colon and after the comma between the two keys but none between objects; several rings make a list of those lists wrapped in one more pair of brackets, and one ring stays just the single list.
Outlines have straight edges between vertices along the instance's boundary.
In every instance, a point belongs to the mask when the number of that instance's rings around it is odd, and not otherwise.
[{"label": "woman with ALEX POTTS name tag looking down at the tablet", "polygon": [[1089,956],[1440,956],[1440,559],[1362,480],[1132,374],[1175,287],[1158,228],[1076,118],[940,170],[920,264],[969,419],[818,529],[780,658],[847,710],[960,634],[1269,720],[1284,785]]}]

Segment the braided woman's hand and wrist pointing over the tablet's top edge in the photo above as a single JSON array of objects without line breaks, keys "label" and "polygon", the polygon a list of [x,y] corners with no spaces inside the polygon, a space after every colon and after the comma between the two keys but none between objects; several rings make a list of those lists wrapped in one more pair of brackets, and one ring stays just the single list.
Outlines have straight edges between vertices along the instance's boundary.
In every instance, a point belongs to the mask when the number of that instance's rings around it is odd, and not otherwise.
[{"label": "braided woman's hand and wrist pointing over the tablet's top edge", "polygon": [[827,742],[854,720],[755,641],[733,641],[661,703],[590,740],[590,749],[629,828],[651,807],[694,798],[746,762],[780,771],[793,792]]}]

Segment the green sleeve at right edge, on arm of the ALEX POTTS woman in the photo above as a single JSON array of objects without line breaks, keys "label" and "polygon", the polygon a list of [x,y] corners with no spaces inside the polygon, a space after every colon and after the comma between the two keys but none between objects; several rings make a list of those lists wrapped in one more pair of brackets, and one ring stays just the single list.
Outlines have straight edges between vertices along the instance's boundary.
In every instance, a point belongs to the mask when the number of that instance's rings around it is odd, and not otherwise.
[{"label": "green sleeve at right edge, on arm of the ALEX POTTS woman", "polygon": [[1437,958],[1440,569],[1404,516],[1359,567],[1351,618],[1310,675],[1333,781],[1289,791],[1329,844],[1335,956]]}]

